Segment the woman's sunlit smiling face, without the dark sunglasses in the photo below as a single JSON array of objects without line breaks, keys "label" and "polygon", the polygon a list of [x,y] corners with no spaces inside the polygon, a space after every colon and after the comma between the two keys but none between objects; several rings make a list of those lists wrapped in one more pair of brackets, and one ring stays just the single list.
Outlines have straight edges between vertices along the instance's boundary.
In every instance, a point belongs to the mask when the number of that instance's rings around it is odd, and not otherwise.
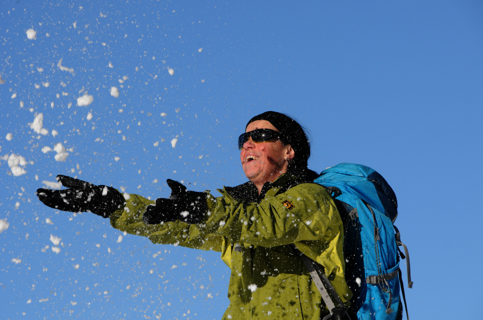
[{"label": "woman's sunlit smiling face, without the dark sunglasses", "polygon": [[[255,129],[278,131],[267,120],[256,120],[246,127],[245,132]],[[294,158],[294,150],[282,141],[254,143],[252,138],[243,144],[240,152],[241,166],[246,177],[256,185],[273,182],[287,172],[288,160]],[[287,159],[285,159],[287,157]]]}]

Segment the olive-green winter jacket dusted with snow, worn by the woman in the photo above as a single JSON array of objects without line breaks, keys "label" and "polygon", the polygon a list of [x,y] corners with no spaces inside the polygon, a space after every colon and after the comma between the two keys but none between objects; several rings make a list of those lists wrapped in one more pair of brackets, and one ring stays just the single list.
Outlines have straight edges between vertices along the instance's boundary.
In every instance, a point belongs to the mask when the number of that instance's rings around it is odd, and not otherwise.
[{"label": "olive-green winter jacket dusted with snow, worn by the woman", "polygon": [[231,269],[230,305],[224,320],[319,320],[328,310],[302,260],[285,245],[295,243],[324,266],[346,303],[352,292],[344,278],[343,224],[324,187],[296,182],[297,177],[282,174],[265,184],[259,199],[252,202],[246,199],[255,200],[253,196],[243,197],[234,188],[219,189],[222,196],[218,198],[208,193],[206,219],[193,225],[179,220],[144,224],[142,214],[154,201],[132,194],[124,210],[110,216],[111,225],[153,243],[221,252]]}]

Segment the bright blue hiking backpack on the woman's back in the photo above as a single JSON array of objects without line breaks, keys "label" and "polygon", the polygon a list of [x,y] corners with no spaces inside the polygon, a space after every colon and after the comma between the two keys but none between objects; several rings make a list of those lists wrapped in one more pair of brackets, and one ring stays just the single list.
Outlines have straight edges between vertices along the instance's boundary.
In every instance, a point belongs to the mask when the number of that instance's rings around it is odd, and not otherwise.
[{"label": "bright blue hiking backpack on the woman's back", "polygon": [[[332,193],[344,222],[345,279],[354,293],[351,318],[401,319],[399,288],[406,315],[408,309],[399,256],[407,257],[409,288],[412,281],[408,250],[393,225],[398,216],[394,191],[381,174],[354,163],[327,168],[314,182]],[[399,250],[401,245],[405,254]]]}]

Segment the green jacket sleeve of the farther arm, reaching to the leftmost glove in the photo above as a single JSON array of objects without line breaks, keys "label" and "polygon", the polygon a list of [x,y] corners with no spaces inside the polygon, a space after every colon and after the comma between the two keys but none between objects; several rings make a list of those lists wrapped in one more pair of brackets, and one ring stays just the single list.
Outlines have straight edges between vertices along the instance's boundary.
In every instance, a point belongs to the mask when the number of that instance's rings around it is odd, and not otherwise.
[{"label": "green jacket sleeve of the farther arm, reaching to the leftmost glove", "polygon": [[158,225],[146,225],[142,214],[146,206],[155,203],[142,196],[131,194],[124,208],[109,217],[111,226],[130,234],[147,237],[153,243],[181,245],[193,249],[214,250],[221,252],[224,239],[217,234],[206,232],[206,225],[189,225],[183,221],[167,222]]}]

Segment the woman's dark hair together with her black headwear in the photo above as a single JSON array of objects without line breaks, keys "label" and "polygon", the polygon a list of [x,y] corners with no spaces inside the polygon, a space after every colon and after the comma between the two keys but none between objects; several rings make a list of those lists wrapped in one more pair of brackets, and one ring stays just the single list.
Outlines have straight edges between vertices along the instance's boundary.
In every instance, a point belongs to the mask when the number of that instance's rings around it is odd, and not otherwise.
[{"label": "woman's dark hair together with her black headwear", "polygon": [[[267,111],[259,114],[246,124],[246,127],[253,121],[269,121],[281,133],[282,141],[290,144],[295,151],[295,158],[289,163],[288,172],[294,175],[308,176],[312,178],[317,173],[307,168],[307,161],[310,157],[310,141],[307,138],[306,130],[293,118],[284,113]],[[245,127],[245,129],[246,129]],[[315,177],[313,179],[315,179]],[[311,179],[311,180],[313,180]]]}]

